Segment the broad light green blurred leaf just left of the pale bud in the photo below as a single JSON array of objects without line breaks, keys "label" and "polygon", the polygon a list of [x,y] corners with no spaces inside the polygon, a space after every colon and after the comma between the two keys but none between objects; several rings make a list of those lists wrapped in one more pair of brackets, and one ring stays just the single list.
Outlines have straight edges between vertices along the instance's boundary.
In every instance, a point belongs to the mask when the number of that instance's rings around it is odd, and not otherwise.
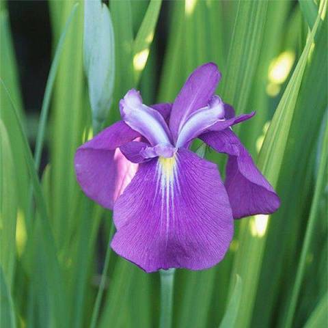
[{"label": "broad light green blurred leaf just left of the pale bud", "polygon": [[[61,1],[61,31],[75,5]],[[70,243],[77,226],[75,215],[80,194],[73,158],[86,130],[89,107],[83,81],[83,6],[79,5],[70,23],[59,59],[51,117],[51,225],[59,251]],[[87,131],[85,131],[87,133]],[[66,251],[64,254],[68,255]]]}]

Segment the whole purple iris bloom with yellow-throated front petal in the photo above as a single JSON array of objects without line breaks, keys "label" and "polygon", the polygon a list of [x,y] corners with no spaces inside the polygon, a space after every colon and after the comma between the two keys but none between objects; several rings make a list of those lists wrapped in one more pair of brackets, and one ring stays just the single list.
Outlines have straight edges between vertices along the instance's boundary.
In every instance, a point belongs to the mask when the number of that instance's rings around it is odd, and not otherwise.
[{"label": "whole purple iris bloom with yellow-throated front petal", "polygon": [[[254,113],[236,117],[214,95],[220,78],[215,64],[198,67],[173,104],[149,107],[139,92],[128,91],[120,101],[122,121],[75,155],[85,194],[113,209],[111,247],[147,272],[212,267],[229,248],[234,219],[279,207],[231,128]],[[195,138],[228,154],[224,183],[215,163],[189,150]]]}]

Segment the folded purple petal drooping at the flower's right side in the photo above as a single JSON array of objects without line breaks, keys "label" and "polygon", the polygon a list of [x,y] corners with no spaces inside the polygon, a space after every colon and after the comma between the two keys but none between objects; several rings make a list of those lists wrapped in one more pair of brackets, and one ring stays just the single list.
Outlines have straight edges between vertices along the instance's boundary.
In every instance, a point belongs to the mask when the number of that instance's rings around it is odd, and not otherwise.
[{"label": "folded purple petal drooping at the flower's right side", "polygon": [[271,214],[279,208],[280,200],[277,193],[230,128],[205,133],[200,139],[217,152],[229,155],[225,186],[234,219],[256,214]]}]

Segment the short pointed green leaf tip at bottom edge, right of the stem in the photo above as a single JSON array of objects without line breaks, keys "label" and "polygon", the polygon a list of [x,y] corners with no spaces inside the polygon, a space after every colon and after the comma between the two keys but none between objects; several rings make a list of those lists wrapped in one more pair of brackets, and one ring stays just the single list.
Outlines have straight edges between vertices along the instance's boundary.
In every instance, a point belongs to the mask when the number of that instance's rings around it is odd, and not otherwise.
[{"label": "short pointed green leaf tip at bottom edge, right of the stem", "polygon": [[223,316],[219,328],[230,328],[234,327],[236,323],[236,318],[241,304],[241,292],[243,290],[243,284],[241,282],[241,277],[236,276],[236,284],[234,285],[234,291],[232,292],[231,299],[228,303],[226,313]]}]

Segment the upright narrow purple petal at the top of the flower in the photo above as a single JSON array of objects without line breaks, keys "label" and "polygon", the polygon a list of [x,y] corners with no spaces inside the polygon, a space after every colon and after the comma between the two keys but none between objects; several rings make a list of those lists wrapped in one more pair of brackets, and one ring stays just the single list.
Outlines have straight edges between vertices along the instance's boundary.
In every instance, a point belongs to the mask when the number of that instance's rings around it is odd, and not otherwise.
[{"label": "upright narrow purple petal at the top of the flower", "polygon": [[206,107],[220,79],[221,73],[213,63],[204,64],[191,73],[172,106],[169,128],[174,141],[189,115]]}]

